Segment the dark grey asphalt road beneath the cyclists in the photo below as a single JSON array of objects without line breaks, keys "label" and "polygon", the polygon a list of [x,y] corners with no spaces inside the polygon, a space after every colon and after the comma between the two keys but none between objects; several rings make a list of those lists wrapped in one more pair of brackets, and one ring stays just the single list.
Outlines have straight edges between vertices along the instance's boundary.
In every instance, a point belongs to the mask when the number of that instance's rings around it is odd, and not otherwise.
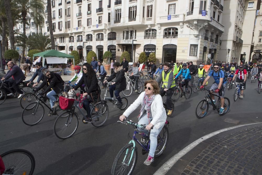
[{"label": "dark grey asphalt road beneath the cyclists", "polygon": [[[209,81],[209,86],[211,86]],[[208,87],[209,87],[208,86]],[[150,166],[143,165],[147,155],[141,154],[138,148],[138,161],[133,174],[153,174],[163,163],[185,146],[199,139],[201,136],[216,130],[235,126],[227,123],[226,118],[239,120],[239,125],[262,122],[261,98],[255,90],[256,83],[247,82],[244,98],[233,101],[234,88],[226,90],[225,97],[231,102],[226,115],[219,116],[216,111],[209,109],[208,115],[203,119],[195,116],[195,107],[204,98],[205,91],[192,94],[190,99],[180,98],[175,103],[175,110],[169,126],[169,139],[166,150]],[[102,91],[103,92],[103,91]],[[108,93],[109,96],[109,93]],[[131,104],[137,94],[128,97]],[[165,97],[163,97],[165,100]],[[22,108],[19,100],[8,98],[0,106],[0,153],[12,149],[26,149],[36,160],[34,174],[110,174],[111,167],[118,151],[129,142],[128,132],[133,134],[133,128],[117,123],[123,111],[113,108],[108,103],[110,114],[107,122],[96,128],[91,124],[83,124],[80,120],[75,134],[66,140],[58,139],[53,133],[53,124],[56,116],[45,116],[39,124],[27,126],[22,122]],[[46,109],[46,108],[45,108]],[[138,121],[139,109],[130,116]]]}]

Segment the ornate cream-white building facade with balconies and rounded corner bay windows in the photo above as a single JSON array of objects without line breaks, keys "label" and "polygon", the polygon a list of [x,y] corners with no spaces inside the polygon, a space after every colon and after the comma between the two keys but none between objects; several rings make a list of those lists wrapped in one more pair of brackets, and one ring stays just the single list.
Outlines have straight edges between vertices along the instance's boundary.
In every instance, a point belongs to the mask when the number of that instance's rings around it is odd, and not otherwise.
[{"label": "ornate cream-white building facade with balconies and rounded corner bay windows", "polygon": [[[52,26],[58,50],[91,50],[99,60],[110,51],[119,61],[123,51],[138,61],[155,52],[161,62],[205,62],[218,59],[223,0],[53,0]],[[45,2],[47,6],[47,2]]]}]

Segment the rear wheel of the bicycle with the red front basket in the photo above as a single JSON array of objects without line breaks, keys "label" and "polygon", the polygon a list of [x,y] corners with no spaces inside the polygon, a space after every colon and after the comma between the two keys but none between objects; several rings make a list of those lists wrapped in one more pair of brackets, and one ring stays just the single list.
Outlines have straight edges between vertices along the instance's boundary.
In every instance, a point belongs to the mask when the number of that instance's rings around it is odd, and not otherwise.
[{"label": "rear wheel of the bicycle with the red front basket", "polygon": [[108,106],[105,103],[99,102],[96,104],[96,108],[91,109],[91,121],[92,125],[99,127],[106,123],[109,115]]}]

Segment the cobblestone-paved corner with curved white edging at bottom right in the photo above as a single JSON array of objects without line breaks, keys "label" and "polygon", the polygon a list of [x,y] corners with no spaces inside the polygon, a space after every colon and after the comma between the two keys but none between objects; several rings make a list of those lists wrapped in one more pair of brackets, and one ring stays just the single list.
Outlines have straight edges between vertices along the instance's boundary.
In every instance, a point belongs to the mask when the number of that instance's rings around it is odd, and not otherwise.
[{"label": "cobblestone-paved corner with curved white edging at bottom right", "polygon": [[[173,156],[155,174],[262,174],[261,142],[262,123],[225,129],[184,156]],[[172,161],[176,163],[167,170],[165,167]]]}]

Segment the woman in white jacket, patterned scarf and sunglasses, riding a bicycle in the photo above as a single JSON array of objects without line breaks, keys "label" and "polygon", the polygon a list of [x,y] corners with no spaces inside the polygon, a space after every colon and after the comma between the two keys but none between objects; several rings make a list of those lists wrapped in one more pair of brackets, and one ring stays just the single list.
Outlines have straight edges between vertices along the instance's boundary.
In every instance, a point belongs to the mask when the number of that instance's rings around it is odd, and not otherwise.
[{"label": "woman in white jacket, patterned scarf and sunglasses, riding a bicycle", "polygon": [[[163,107],[162,97],[159,94],[158,83],[154,80],[145,82],[145,92],[142,92],[139,97],[131,104],[127,110],[119,117],[121,121],[126,119],[135,109],[141,105],[140,114],[138,116],[138,124],[146,124],[146,129],[150,130],[150,150],[148,158],[145,160],[145,165],[150,165],[154,160],[157,147],[157,136],[162,130],[166,122],[166,111]],[[145,130],[143,130],[145,134]]]}]

